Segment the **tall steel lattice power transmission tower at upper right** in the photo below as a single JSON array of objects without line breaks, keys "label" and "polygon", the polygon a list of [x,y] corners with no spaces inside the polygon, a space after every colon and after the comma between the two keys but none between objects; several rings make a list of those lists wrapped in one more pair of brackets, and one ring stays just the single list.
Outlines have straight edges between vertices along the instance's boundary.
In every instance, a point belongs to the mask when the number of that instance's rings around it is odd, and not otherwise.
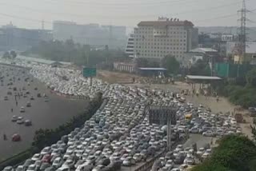
[{"label": "tall steel lattice power transmission tower at upper right", "polygon": [[238,10],[238,14],[241,14],[241,18],[238,19],[240,21],[240,28],[238,29],[238,55],[242,58],[245,58],[246,54],[246,13],[250,12],[250,10],[246,9],[246,0],[242,1],[242,9]]}]

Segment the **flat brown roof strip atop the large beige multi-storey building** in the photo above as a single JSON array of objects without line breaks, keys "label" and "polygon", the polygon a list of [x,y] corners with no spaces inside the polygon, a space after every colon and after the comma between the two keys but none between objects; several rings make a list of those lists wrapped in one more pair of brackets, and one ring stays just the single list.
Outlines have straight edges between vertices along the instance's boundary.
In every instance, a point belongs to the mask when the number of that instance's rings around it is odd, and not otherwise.
[{"label": "flat brown roof strip atop the large beige multi-storey building", "polygon": [[192,22],[189,21],[144,21],[139,22],[138,26],[194,26]]}]

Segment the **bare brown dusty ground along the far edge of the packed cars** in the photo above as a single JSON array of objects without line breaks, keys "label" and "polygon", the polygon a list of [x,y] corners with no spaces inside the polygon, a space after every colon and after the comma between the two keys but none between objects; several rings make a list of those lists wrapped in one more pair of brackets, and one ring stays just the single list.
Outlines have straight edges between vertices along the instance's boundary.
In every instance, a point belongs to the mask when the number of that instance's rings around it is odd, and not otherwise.
[{"label": "bare brown dusty ground along the far edge of the packed cars", "polygon": [[[135,78],[136,81],[143,79],[142,77],[138,77],[137,75],[134,74],[122,74],[122,73],[116,73],[116,72],[110,72],[110,71],[99,71],[99,78],[103,79],[106,82],[110,83],[127,83],[131,82],[132,78]],[[180,91],[181,89],[191,89],[191,86],[188,85],[185,82],[175,82],[174,85],[171,84],[162,84],[162,85],[149,85],[149,84],[140,84],[140,83],[135,83],[135,84],[127,84],[127,85],[134,85],[138,87],[150,87],[151,89],[170,89],[172,91]],[[238,107],[233,104],[231,104],[225,97],[220,97],[220,101],[216,101],[216,97],[204,97],[204,96],[199,96],[199,97],[192,97],[191,95],[186,96],[186,101],[190,101],[194,103],[195,105],[205,105],[209,107],[214,113],[222,112],[233,112],[234,108]],[[249,117],[246,113],[248,113],[247,110],[243,110],[239,113],[242,113],[244,116],[244,119],[246,123],[240,124],[242,128],[242,133],[244,133],[248,137],[252,137],[250,125],[253,124],[253,118]]]}]

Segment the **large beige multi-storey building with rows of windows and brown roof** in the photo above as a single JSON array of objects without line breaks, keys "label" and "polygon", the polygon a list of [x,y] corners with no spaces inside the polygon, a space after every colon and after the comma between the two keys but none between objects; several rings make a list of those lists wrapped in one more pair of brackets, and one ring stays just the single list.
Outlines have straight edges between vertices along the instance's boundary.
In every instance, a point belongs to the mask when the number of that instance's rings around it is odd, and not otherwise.
[{"label": "large beige multi-storey building with rows of windows and brown roof", "polygon": [[[192,49],[194,25],[189,21],[158,18],[158,21],[139,22],[134,29],[134,55],[138,58],[160,60],[171,54],[182,62]],[[197,46],[197,45],[196,45]]]}]

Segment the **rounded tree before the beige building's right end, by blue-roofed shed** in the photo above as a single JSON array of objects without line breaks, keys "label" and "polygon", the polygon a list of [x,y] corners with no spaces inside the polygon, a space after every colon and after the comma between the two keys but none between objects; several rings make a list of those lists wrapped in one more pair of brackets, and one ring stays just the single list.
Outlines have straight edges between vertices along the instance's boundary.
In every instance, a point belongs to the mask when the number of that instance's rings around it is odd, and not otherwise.
[{"label": "rounded tree before the beige building's right end, by blue-roofed shed", "polygon": [[162,58],[162,66],[165,67],[170,74],[178,74],[180,67],[177,59],[172,55],[167,55],[165,58]]}]

